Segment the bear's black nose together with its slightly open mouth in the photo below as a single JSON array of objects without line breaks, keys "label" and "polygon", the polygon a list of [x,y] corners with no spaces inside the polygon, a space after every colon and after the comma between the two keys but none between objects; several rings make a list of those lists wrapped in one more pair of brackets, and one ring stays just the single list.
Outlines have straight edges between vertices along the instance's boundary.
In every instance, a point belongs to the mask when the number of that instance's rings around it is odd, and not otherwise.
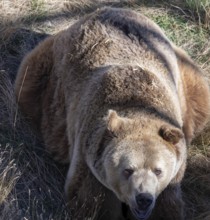
[{"label": "bear's black nose together with its slightly open mouth", "polygon": [[135,197],[135,205],[131,211],[137,220],[146,220],[155,205],[155,198],[150,193],[140,193]]}]

